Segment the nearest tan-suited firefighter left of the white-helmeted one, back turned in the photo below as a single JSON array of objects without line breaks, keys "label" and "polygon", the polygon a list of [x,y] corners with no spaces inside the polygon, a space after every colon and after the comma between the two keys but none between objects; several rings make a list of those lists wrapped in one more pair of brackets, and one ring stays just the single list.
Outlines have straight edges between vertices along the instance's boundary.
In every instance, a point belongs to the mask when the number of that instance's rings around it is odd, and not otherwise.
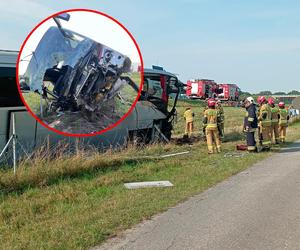
[{"label": "nearest tan-suited firefighter left of the white-helmeted one, back turned", "polygon": [[219,138],[218,123],[220,123],[220,114],[216,109],[216,101],[209,99],[207,102],[208,109],[204,112],[203,127],[207,141],[208,153],[213,154],[214,148],[221,152],[221,142]]}]

